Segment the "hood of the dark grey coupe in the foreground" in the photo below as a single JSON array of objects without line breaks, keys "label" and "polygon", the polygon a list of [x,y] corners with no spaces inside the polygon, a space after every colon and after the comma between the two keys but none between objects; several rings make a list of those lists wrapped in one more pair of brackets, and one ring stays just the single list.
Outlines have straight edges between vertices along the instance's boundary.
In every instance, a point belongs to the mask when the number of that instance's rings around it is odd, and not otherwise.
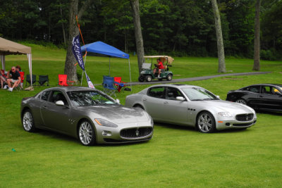
[{"label": "hood of the dark grey coupe in the foreground", "polygon": [[111,123],[137,123],[149,121],[149,116],[139,108],[127,108],[121,105],[82,106],[94,118],[102,118]]}]

